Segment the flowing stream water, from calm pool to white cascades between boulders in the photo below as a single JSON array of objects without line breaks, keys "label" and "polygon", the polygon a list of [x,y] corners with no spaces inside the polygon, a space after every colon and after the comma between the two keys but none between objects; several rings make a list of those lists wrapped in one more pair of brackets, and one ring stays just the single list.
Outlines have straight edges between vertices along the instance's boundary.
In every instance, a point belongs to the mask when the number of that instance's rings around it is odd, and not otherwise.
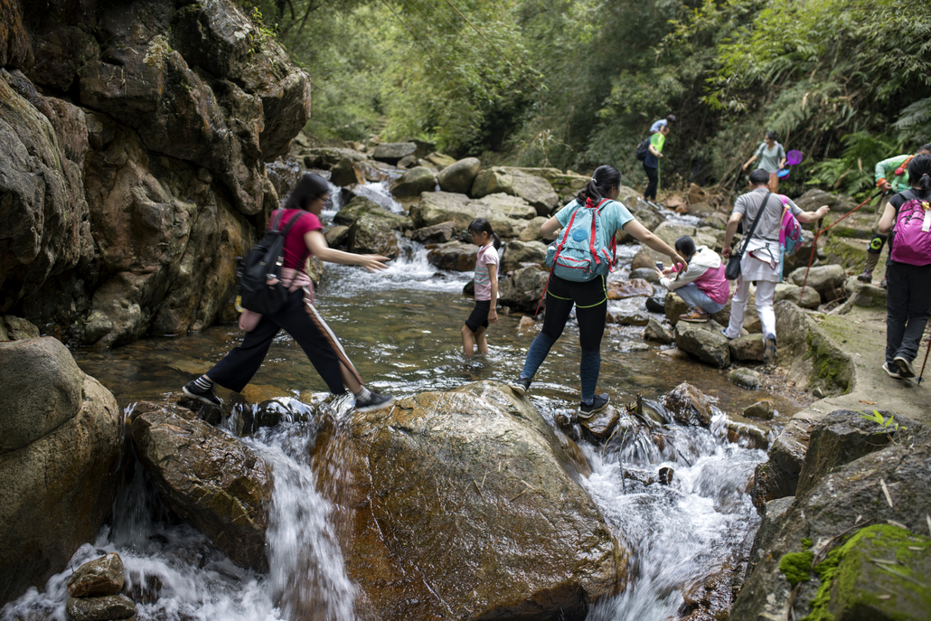
[{"label": "flowing stream water, from calm pool to white cascades between boulders", "polygon": [[[397,210],[384,185],[370,185],[367,191],[381,194],[385,209]],[[337,209],[338,202],[324,214],[325,220]],[[462,289],[471,273],[438,270],[427,263],[423,247],[407,240],[402,249],[402,256],[379,274],[328,265],[318,290],[318,308],[367,384],[405,397],[481,379],[517,377],[536,332],[520,331],[519,316],[502,314],[488,332],[489,355],[463,358],[459,332],[472,300]],[[629,263],[635,251],[622,247],[622,263]],[[642,299],[613,302],[612,309],[640,309],[641,304]],[[611,392],[615,403],[631,402],[639,394],[659,400],[683,381],[727,412],[739,412],[762,397],[729,384],[721,371],[663,355],[668,347],[645,343],[641,333],[641,328],[614,325],[605,333],[600,388]],[[181,386],[206,371],[240,337],[235,326],[223,325],[113,350],[79,350],[74,356],[130,412],[139,400],[179,398]],[[572,320],[533,384],[533,402],[550,424],[556,413],[578,401],[580,354]],[[237,407],[278,398],[300,409],[302,402],[319,402],[325,390],[303,352],[282,332],[247,389],[247,400],[240,398]],[[218,393],[233,398],[226,391]],[[780,412],[776,423],[800,407],[778,395],[766,397]],[[334,399],[327,407],[336,433],[344,432],[351,398]],[[589,619],[678,618],[684,610],[683,592],[700,587],[708,576],[726,573],[746,555],[748,536],[758,523],[747,488],[765,452],[728,442],[723,418],[718,412],[709,429],[671,425],[663,432],[669,442],[662,450],[641,441],[619,452],[602,452],[580,441],[593,469],[587,490],[609,527],[631,549],[633,569],[627,589],[601,601]],[[230,421],[224,425],[232,432]],[[141,621],[356,618],[357,587],[345,574],[338,511],[328,500],[338,491],[319,489],[314,470],[330,468],[327,479],[338,482],[339,455],[333,453],[336,449],[314,454],[317,425],[286,423],[245,439],[275,472],[268,574],[236,567],[204,535],[178,522],[142,476],[142,467],[131,460],[112,523],[96,541],[78,549],[71,568],[53,576],[42,592],[31,589],[7,604],[0,619],[27,619],[31,612],[42,612],[45,616],[38,618],[65,621],[65,581],[72,568],[106,551],[123,558],[128,594],[139,606]],[[322,461],[315,465],[315,459]],[[646,481],[663,466],[675,470],[669,485]]]}]

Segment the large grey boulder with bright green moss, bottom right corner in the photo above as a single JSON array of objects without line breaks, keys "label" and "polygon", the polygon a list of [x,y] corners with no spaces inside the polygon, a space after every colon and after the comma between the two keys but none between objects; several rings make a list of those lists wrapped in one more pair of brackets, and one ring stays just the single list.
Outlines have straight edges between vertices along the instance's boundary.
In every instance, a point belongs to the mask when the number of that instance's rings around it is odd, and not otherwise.
[{"label": "large grey boulder with bright green moss, bottom right corner", "polygon": [[[907,431],[887,434],[859,418],[832,412],[815,425],[803,465],[813,478],[754,551],[730,618],[927,618],[915,583],[931,579],[931,540],[917,534],[931,514],[931,432],[896,416]],[[870,439],[884,441],[870,451]]]}]

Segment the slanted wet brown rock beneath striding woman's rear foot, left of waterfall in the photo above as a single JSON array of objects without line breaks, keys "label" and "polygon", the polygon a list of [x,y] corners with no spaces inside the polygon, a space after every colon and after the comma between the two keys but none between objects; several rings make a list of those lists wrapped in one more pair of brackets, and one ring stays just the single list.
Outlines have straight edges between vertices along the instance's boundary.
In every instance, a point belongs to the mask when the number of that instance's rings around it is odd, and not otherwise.
[{"label": "slanted wet brown rock beneath striding woman's rear foot, left of waterfall", "polygon": [[241,440],[140,404],[132,440],[159,497],[239,565],[265,571],[272,470]]}]

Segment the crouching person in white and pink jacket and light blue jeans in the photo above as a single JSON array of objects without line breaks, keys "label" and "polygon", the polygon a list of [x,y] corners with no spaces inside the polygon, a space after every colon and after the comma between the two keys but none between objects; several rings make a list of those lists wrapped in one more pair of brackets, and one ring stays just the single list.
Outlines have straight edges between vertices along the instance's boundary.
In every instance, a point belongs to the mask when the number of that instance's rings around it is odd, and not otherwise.
[{"label": "crouching person in white and pink jacket and light blue jeans", "polygon": [[[675,248],[689,262],[688,268],[681,271],[681,265],[673,265],[660,271],[659,284],[675,291],[692,307],[679,316],[682,321],[708,321],[727,304],[731,295],[731,287],[724,277],[724,263],[718,253],[707,246],[695,248],[695,241],[687,235],[676,239]],[[676,276],[670,278],[673,274]]]}]

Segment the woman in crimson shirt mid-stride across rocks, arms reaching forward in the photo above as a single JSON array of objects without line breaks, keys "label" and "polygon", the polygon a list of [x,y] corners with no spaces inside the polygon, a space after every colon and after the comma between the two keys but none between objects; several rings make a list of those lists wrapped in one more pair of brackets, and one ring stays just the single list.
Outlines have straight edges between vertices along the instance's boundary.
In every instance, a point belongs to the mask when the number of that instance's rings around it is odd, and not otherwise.
[{"label": "woman in crimson shirt mid-stride across rocks, arms reaching forward", "polygon": [[272,212],[270,222],[277,222],[280,229],[296,219],[285,238],[285,262],[281,271],[282,280],[290,283],[288,303],[272,315],[243,313],[239,320],[239,327],[246,331],[242,344],[212,369],[185,385],[185,395],[222,405],[213,392],[213,385],[240,392],[259,371],[278,331],[284,329],[301,345],[331,393],[342,395],[345,387],[353,392],[359,412],[380,410],[394,403],[391,395],[379,395],[362,384],[343,345],[314,306],[314,284],[304,271],[311,254],[330,263],[360,265],[370,272],[385,269],[383,263],[388,260],[377,254],[353,254],[329,248],[320,223],[320,212],[329,202],[330,185],[323,177],[308,173],[294,186],[284,209]]}]

